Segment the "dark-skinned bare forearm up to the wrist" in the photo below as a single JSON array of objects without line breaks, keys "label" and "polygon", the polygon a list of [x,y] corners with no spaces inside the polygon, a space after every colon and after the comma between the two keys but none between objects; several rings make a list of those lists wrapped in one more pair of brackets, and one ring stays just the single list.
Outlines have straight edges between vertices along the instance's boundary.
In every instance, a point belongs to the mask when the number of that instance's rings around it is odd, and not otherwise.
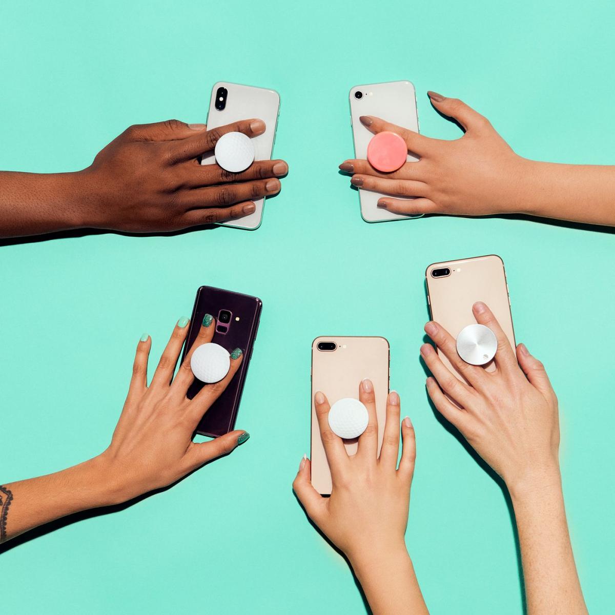
[{"label": "dark-skinned bare forearm up to the wrist", "polygon": [[90,226],[95,197],[87,172],[0,172],[0,237]]}]

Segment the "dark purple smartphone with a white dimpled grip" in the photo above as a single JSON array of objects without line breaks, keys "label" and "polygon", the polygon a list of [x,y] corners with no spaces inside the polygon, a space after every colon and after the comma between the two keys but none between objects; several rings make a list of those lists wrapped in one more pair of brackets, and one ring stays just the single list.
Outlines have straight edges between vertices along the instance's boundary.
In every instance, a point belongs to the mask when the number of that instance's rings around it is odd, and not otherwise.
[{"label": "dark purple smartphone with a white dimpled grip", "polygon": [[[229,352],[236,348],[244,352],[244,360],[241,362],[239,371],[234,375],[226,390],[213,402],[205,416],[200,419],[196,429],[198,434],[217,437],[228,434],[235,427],[237,410],[239,410],[241,394],[244,391],[248,365],[252,359],[262,309],[263,302],[258,297],[241,295],[231,290],[211,286],[202,286],[197,290],[188,339],[181,360],[185,359],[194,343],[205,314],[211,314],[216,319],[213,342],[220,344]],[[195,378],[188,389],[188,398],[192,399],[202,387],[204,383]]]}]

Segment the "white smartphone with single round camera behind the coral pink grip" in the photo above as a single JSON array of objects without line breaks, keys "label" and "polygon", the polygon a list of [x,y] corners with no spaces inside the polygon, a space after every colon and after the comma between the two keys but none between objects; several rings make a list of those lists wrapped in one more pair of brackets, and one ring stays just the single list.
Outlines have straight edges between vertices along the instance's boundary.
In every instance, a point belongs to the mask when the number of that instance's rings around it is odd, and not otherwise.
[{"label": "white smartphone with single round camera behind the coral pink grip", "polygon": [[[350,90],[350,116],[352,138],[354,139],[355,158],[367,159],[367,145],[374,136],[361,122],[359,117],[371,115],[380,117],[391,124],[419,132],[419,119],[416,111],[415,86],[410,81],[389,81],[355,85]],[[408,162],[418,161],[418,157],[408,154]],[[378,199],[385,194],[359,188],[361,215],[366,222],[386,222],[407,220],[421,216],[405,216],[387,212],[379,208]],[[396,197],[403,198],[403,197]],[[412,197],[409,197],[411,199]]]}]

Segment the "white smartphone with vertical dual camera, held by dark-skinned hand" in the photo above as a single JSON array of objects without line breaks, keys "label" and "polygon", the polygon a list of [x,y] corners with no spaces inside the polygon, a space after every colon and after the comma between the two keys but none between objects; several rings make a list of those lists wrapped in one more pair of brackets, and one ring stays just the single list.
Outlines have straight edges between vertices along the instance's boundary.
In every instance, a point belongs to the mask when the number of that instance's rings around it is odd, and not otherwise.
[{"label": "white smartphone with vertical dual camera, held by dark-skinned hand", "polygon": [[[273,144],[276,140],[277,118],[280,113],[280,95],[275,90],[266,90],[252,85],[238,85],[218,81],[212,88],[212,98],[207,113],[207,128],[218,128],[242,119],[256,117],[266,125],[265,132],[252,138],[256,151],[255,160],[271,160]],[[202,157],[200,164],[214,164],[212,152]],[[263,221],[262,199],[255,199],[256,210],[243,218],[223,222],[224,226],[242,229],[257,229]]]}]

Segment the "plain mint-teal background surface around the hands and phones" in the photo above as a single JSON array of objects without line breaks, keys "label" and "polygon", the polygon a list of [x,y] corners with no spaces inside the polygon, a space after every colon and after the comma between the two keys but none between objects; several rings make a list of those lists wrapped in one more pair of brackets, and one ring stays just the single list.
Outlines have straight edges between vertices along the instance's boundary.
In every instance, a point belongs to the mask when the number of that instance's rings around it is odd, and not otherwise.
[{"label": "plain mint-teal background surface around the hands and phones", "polygon": [[415,83],[426,135],[459,136],[433,89],[523,156],[613,163],[614,26],[606,1],[4,2],[1,169],[82,169],[130,124],[203,122],[225,79],[280,92],[274,154],[290,173],[255,232],[0,247],[1,482],[103,450],[142,331],[155,359],[199,285],[264,303],[237,421],[250,440],[165,493],[8,550],[3,611],[362,613],[291,489],[309,451],[311,341],[338,333],[391,343],[418,437],[407,544],[432,613],[519,613],[502,491],[435,419],[418,360],[427,264],[486,253],[504,259],[518,341],[559,395],[577,566],[590,611],[611,610],[613,235],[502,218],[366,224],[337,165],[352,157],[349,88],[394,79]]}]

